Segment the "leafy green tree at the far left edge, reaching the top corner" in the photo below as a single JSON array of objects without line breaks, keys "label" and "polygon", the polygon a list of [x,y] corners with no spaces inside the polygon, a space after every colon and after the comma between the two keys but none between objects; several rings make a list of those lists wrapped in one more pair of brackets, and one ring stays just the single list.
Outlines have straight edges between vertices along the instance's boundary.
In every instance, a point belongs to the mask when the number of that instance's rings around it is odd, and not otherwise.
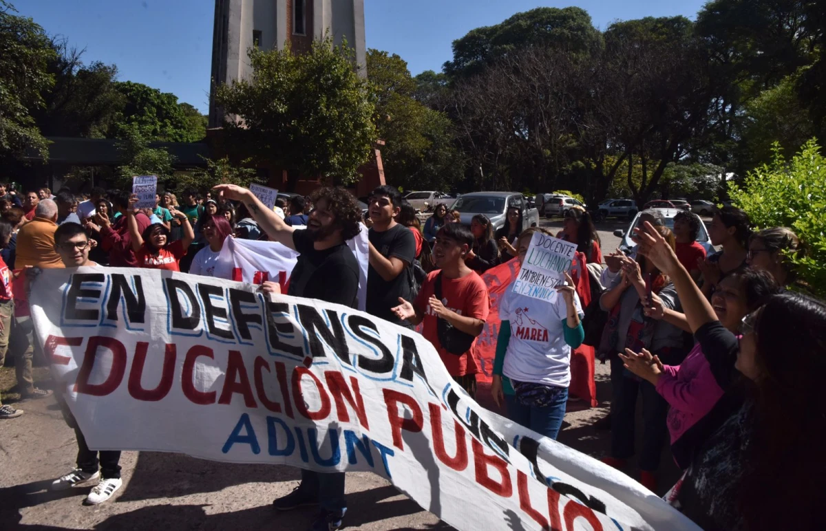
[{"label": "leafy green tree at the far left edge, reaching the top corner", "polygon": [[35,149],[44,159],[48,142],[31,112],[43,107],[42,92],[55,80],[48,65],[55,50],[43,28],[0,0],[0,159]]}]

